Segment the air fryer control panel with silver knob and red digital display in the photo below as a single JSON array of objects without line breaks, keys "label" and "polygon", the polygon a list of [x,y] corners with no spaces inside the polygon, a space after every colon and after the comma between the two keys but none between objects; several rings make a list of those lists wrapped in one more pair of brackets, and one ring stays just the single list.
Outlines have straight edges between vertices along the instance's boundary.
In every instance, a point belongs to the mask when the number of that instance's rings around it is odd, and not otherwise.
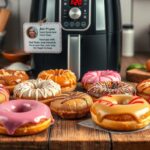
[{"label": "air fryer control panel with silver knob and red digital display", "polygon": [[60,0],[60,22],[64,30],[84,31],[91,23],[91,0]]}]

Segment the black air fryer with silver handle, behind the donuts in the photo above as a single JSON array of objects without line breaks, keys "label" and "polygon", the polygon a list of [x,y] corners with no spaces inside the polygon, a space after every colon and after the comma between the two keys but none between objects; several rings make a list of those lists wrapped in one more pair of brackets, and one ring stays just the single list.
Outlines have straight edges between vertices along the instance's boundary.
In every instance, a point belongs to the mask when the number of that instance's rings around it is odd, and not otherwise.
[{"label": "black air fryer with silver handle, behind the donuts", "polygon": [[80,79],[90,70],[120,70],[120,0],[32,0],[31,22],[62,25],[62,53],[33,54],[35,73],[71,69]]}]

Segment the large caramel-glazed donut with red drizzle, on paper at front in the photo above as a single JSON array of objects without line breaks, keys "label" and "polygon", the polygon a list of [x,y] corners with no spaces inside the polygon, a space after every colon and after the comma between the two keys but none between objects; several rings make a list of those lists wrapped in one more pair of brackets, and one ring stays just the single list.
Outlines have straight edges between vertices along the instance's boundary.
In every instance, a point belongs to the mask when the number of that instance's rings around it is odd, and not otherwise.
[{"label": "large caramel-glazed donut with red drizzle, on paper at front", "polygon": [[138,96],[104,96],[92,105],[90,111],[92,120],[108,130],[138,130],[150,123],[149,103]]}]

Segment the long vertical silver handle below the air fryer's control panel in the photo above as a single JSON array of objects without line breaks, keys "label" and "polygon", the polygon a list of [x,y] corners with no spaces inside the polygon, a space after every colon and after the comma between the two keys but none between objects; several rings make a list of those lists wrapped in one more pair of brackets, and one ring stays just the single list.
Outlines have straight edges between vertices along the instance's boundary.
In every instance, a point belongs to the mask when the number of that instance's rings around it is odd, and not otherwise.
[{"label": "long vertical silver handle below the air fryer's control panel", "polygon": [[80,78],[81,68],[81,36],[68,35],[68,69]]}]

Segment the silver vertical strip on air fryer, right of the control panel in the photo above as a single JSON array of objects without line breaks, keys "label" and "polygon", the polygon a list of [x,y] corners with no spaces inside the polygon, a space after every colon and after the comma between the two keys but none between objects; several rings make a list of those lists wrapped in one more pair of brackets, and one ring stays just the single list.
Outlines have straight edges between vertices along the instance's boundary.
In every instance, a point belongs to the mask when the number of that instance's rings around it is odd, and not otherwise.
[{"label": "silver vertical strip on air fryer, right of the control panel", "polygon": [[96,31],[105,29],[105,0],[96,0]]}]

